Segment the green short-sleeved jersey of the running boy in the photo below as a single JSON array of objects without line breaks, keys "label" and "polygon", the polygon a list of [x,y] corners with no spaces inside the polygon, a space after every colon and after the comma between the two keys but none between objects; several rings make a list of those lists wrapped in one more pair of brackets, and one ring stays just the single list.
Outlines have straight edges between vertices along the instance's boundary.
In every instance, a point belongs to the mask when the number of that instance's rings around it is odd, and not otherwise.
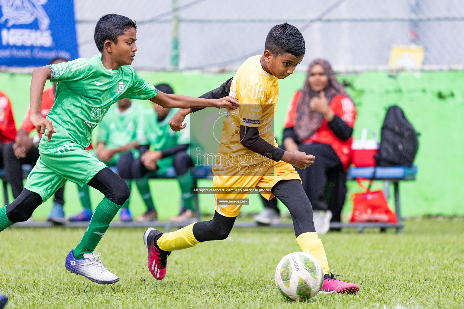
[{"label": "green short-sleeved jersey of the running boy", "polygon": [[58,82],[55,103],[47,115],[57,130],[50,142],[40,147],[56,147],[53,140],[70,139],[84,148],[90,145],[92,130],[103,120],[111,104],[123,98],[147,100],[158,90],[125,65],[106,69],[102,55],[51,64],[52,81]]}]

